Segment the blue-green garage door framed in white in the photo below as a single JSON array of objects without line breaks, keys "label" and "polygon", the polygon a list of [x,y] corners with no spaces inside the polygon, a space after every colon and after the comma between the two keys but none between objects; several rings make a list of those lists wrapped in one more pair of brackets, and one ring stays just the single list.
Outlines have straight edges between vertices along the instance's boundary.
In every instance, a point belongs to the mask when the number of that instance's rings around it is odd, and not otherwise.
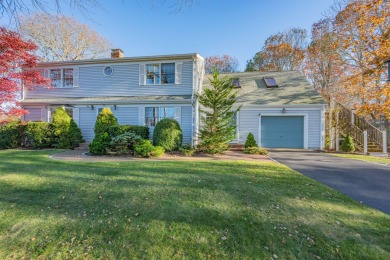
[{"label": "blue-green garage door framed in white", "polygon": [[303,116],[262,116],[261,146],[303,148]]}]

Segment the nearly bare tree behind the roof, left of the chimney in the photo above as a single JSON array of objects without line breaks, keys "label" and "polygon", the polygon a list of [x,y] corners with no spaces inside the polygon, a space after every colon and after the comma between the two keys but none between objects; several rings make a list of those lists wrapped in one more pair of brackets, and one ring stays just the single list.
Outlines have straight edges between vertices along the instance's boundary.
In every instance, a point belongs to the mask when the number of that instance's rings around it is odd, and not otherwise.
[{"label": "nearly bare tree behind the roof, left of the chimney", "polygon": [[72,17],[36,14],[22,17],[21,34],[38,45],[43,61],[107,57],[111,43]]}]

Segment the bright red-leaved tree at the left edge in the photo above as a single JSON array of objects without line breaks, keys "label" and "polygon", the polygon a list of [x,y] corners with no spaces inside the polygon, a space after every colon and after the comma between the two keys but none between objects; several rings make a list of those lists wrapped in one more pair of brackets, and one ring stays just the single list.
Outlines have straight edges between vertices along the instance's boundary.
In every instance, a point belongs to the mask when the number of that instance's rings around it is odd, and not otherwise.
[{"label": "bright red-leaved tree at the left edge", "polygon": [[22,85],[28,89],[49,87],[50,81],[34,70],[38,62],[36,48],[18,33],[0,27],[0,122],[27,113],[18,103]]}]

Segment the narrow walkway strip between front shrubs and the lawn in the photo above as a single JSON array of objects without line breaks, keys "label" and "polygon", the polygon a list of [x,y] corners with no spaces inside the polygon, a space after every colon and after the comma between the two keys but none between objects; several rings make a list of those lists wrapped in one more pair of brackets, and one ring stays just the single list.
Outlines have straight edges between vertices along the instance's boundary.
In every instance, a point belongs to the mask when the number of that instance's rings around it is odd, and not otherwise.
[{"label": "narrow walkway strip between front shrubs and the lawn", "polygon": [[253,154],[244,154],[241,151],[227,151],[223,155],[199,155],[192,157],[178,156],[165,154],[162,157],[158,158],[139,158],[139,157],[130,157],[130,156],[91,156],[87,155],[88,150],[86,149],[76,149],[76,150],[67,150],[61,153],[53,154],[50,158],[55,160],[64,160],[64,161],[88,161],[88,162],[123,162],[123,161],[134,161],[134,160],[157,160],[157,161],[172,161],[172,160],[213,160],[213,161],[224,161],[224,160],[233,160],[233,161],[254,161],[254,162],[272,162],[270,158],[263,155],[253,155]]}]

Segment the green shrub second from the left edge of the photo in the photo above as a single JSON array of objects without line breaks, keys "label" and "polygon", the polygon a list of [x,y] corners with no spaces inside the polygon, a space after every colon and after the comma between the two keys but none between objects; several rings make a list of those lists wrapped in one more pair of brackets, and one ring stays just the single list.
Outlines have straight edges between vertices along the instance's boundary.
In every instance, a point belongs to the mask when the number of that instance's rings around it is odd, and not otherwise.
[{"label": "green shrub second from the left edge of the photo", "polygon": [[28,122],[23,134],[22,146],[33,149],[50,148],[52,146],[52,129],[50,123]]}]

